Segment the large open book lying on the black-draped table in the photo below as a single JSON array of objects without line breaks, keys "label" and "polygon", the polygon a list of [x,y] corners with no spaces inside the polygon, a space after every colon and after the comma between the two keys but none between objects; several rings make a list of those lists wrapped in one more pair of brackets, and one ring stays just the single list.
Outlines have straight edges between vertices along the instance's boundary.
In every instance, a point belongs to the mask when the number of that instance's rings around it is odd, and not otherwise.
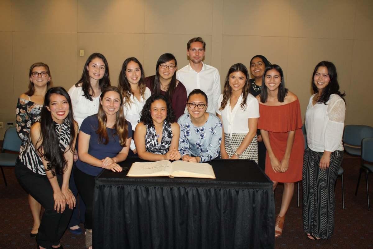
[{"label": "large open book lying on the black-draped table", "polygon": [[208,163],[190,163],[168,160],[133,163],[127,176],[200,177],[215,179],[214,170]]}]

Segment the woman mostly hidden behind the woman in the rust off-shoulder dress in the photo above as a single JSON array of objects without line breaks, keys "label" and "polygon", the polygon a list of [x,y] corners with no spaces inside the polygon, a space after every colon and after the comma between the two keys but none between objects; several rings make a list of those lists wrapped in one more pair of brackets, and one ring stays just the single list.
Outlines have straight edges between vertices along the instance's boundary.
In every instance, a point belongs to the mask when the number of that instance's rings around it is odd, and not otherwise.
[{"label": "woman mostly hidden behind the woman in the rust off-shoulder dress", "polygon": [[[250,79],[250,93],[257,97],[261,92],[261,84],[263,82],[263,73],[267,66],[271,63],[262,55],[254,56],[250,61],[250,71],[254,79]],[[260,130],[257,130],[258,136],[258,161],[259,167],[265,170],[266,166],[266,146],[260,135]]]}]

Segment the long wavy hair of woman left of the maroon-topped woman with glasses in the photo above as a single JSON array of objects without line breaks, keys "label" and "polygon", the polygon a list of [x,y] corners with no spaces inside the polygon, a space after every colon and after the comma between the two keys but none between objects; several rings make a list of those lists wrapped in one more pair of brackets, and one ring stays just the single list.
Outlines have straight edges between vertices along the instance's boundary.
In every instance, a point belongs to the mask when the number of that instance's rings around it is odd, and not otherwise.
[{"label": "long wavy hair of woman left of the maroon-topped woman with glasses", "polygon": [[140,89],[140,93],[141,93],[142,98],[145,98],[145,89],[146,89],[145,73],[144,73],[144,69],[142,68],[141,63],[135,57],[127,58],[123,62],[122,70],[120,70],[120,73],[119,73],[118,89],[122,93],[121,95],[124,99],[124,104],[128,105],[129,107],[131,107],[131,103],[132,103],[131,94],[134,95],[134,92],[131,90],[131,84],[128,82],[128,79],[126,77],[127,65],[130,62],[137,63],[139,65],[140,70],[141,70],[141,78],[140,78],[140,81],[139,81],[137,87],[138,87],[138,89]]}]

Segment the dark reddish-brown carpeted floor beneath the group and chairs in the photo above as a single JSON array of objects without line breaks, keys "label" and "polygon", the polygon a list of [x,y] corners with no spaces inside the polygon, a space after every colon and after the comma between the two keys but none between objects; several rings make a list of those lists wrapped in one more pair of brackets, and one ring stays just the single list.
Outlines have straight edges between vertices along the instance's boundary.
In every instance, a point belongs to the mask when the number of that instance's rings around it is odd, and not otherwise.
[{"label": "dark reddish-brown carpeted floor beneath the group and chairs", "polygon": [[[300,207],[297,207],[297,185],[294,198],[286,214],[284,231],[275,240],[275,248],[373,248],[373,201],[368,211],[365,178],[362,179],[358,195],[355,196],[360,158],[345,157],[344,185],[345,209],[342,210],[341,177],[336,184],[335,231],[330,240],[308,240],[303,232],[302,197],[300,189]],[[32,217],[28,206],[27,194],[19,186],[14,176],[14,168],[4,168],[8,186],[0,179],[0,248],[29,249],[36,248],[35,239],[30,238]],[[363,175],[364,177],[364,175]],[[370,189],[372,195],[372,176]],[[279,212],[283,186],[275,192],[276,214]],[[81,225],[83,228],[83,226]],[[84,235],[73,235],[68,230],[61,239],[64,248],[84,248]],[[248,246],[247,248],[250,248]],[[98,248],[96,248],[98,249]]]}]

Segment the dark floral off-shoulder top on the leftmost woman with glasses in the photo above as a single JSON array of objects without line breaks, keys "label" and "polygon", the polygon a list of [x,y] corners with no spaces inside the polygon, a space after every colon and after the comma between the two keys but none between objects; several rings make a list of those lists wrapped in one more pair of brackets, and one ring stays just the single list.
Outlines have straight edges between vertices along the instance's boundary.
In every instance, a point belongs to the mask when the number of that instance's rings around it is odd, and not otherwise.
[{"label": "dark floral off-shoulder top on the leftmost woman with glasses", "polygon": [[43,107],[43,105],[34,103],[31,100],[18,98],[16,108],[16,128],[18,136],[22,139],[21,148],[19,149],[20,152],[25,149],[32,124],[34,124],[40,117],[41,107]]}]

